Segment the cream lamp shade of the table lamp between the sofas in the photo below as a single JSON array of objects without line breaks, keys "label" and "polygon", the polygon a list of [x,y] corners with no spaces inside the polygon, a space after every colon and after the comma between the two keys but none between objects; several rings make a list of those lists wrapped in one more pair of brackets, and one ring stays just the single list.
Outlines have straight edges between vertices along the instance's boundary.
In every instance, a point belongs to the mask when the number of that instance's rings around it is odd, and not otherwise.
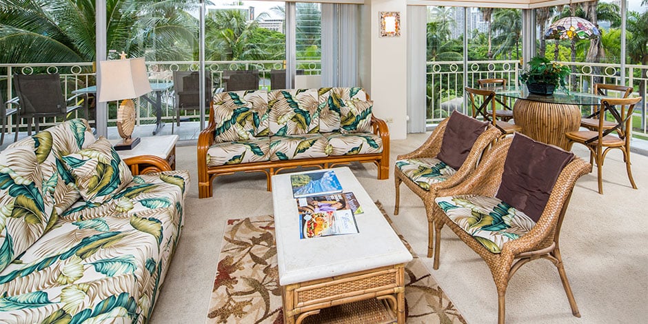
[{"label": "cream lamp shade of the table lamp between the sofas", "polygon": [[133,99],[151,92],[143,57],[99,62],[99,102]]}]

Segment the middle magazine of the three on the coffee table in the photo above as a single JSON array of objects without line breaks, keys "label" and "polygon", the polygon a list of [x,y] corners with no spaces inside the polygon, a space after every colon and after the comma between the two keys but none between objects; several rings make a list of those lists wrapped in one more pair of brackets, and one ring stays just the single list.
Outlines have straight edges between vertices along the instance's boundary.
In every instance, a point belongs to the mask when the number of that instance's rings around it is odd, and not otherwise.
[{"label": "middle magazine of the three on the coffee table", "polygon": [[321,194],[318,196],[298,198],[296,200],[297,208],[301,214],[335,210],[351,210],[354,215],[363,213],[362,207],[353,192]]}]

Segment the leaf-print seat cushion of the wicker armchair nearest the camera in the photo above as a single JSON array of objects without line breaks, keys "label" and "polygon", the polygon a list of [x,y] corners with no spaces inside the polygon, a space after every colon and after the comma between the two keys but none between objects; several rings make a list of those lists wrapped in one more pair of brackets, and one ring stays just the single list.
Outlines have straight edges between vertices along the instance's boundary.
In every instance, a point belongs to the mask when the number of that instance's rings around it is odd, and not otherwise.
[{"label": "leaf-print seat cushion of the wicker armchair nearest the camera", "polygon": [[504,243],[519,239],[536,225],[525,213],[494,197],[461,195],[435,201],[450,220],[492,253],[500,253]]}]

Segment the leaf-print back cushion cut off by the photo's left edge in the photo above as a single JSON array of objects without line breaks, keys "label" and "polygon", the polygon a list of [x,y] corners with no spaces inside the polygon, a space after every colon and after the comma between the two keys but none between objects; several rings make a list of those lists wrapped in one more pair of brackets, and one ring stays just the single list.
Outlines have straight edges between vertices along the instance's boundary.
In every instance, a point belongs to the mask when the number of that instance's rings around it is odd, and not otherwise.
[{"label": "leaf-print back cushion cut off by the photo's left edge", "polygon": [[34,150],[0,152],[0,270],[43,235],[53,208]]}]

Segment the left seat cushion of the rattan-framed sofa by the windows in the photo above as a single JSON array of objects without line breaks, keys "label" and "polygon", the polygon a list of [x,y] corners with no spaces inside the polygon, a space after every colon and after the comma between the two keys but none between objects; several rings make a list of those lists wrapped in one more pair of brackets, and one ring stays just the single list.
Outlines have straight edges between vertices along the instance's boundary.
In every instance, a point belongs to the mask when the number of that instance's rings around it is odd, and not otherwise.
[{"label": "left seat cushion of the rattan-framed sofa by the windows", "polygon": [[270,160],[270,138],[215,143],[207,150],[207,166],[262,162]]}]

